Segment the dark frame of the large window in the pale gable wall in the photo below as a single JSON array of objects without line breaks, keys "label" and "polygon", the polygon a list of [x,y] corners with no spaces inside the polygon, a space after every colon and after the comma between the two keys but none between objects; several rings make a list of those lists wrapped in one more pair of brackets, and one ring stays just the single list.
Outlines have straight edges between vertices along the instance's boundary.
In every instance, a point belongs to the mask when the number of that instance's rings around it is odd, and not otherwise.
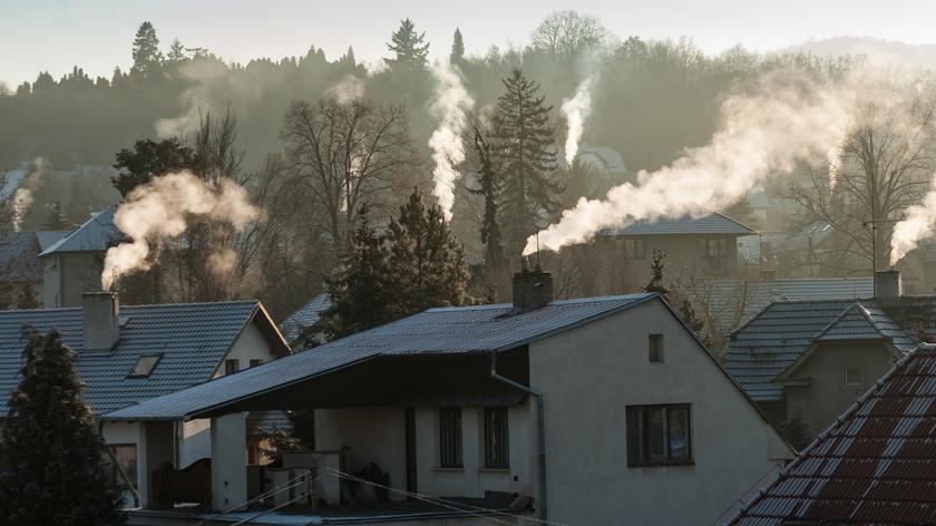
[{"label": "dark frame of the large window in the pale gable wall", "polygon": [[[662,409],[664,431],[663,440],[664,458],[653,458],[650,448],[652,447],[652,438],[650,437],[650,417],[652,410]],[[673,434],[671,419],[671,410],[680,409],[685,411],[685,450],[684,456],[673,457]],[[692,405],[691,403],[651,403],[651,405],[634,405],[625,407],[625,427],[626,427],[626,455],[627,467],[655,467],[655,466],[693,466],[695,464],[693,456],[693,439],[692,439]],[[636,442],[634,442],[636,440]]]}]

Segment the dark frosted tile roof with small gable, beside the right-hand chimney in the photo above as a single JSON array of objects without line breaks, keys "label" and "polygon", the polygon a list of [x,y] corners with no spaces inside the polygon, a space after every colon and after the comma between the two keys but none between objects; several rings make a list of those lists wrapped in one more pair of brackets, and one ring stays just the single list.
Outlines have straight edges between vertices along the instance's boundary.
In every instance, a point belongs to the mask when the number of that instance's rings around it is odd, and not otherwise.
[{"label": "dark frosted tile roof with small gable, beside the right-hand chimney", "polygon": [[772,380],[817,339],[871,338],[909,351],[917,343],[911,330],[898,308],[876,300],[777,301],[732,334],[724,367],[754,400],[779,401],[783,388]]}]

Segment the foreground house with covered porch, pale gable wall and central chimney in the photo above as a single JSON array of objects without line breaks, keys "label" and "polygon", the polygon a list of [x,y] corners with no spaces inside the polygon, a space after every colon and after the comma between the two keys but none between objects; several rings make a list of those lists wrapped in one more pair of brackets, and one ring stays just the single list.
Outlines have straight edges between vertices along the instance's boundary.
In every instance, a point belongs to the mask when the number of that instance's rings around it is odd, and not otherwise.
[{"label": "foreground house with covered porch, pale gable wall and central chimney", "polygon": [[[173,460],[178,422],[211,419],[216,437],[212,501],[157,510],[172,503],[145,495],[130,524],[217,510],[251,524],[710,524],[791,456],[660,295],[550,301],[552,288],[524,271],[513,303],[430,309],[108,413],[142,422],[143,470]],[[245,415],[282,409],[314,409],[316,450],[290,465],[316,473],[316,500],[378,501],[257,507]]]}]

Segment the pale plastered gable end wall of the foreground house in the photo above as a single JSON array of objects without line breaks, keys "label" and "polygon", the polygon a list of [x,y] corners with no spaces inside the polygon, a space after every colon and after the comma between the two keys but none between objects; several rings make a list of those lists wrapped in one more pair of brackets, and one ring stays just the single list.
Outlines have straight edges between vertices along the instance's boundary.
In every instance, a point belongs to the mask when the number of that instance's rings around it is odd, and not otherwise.
[{"label": "pale plastered gable end wall of the foreground house", "polygon": [[[647,359],[664,334],[664,362]],[[698,525],[733,513],[792,455],[662,302],[530,344],[544,394],[549,519]],[[628,467],[625,408],[690,403],[693,464]]]}]

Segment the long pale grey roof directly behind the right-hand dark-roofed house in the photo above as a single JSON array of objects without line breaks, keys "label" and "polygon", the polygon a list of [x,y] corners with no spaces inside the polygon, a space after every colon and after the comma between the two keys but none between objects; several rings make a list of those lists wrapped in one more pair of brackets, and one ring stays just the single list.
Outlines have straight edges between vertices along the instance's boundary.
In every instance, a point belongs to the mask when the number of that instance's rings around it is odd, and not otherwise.
[{"label": "long pale grey roof directly behind the right-hand dark-roofed house", "polygon": [[[875,293],[872,277],[831,277],[712,283],[706,303],[721,334],[733,331],[777,300],[857,300]],[[730,313],[730,316],[719,314]],[[737,323],[738,325],[730,327]]]}]

